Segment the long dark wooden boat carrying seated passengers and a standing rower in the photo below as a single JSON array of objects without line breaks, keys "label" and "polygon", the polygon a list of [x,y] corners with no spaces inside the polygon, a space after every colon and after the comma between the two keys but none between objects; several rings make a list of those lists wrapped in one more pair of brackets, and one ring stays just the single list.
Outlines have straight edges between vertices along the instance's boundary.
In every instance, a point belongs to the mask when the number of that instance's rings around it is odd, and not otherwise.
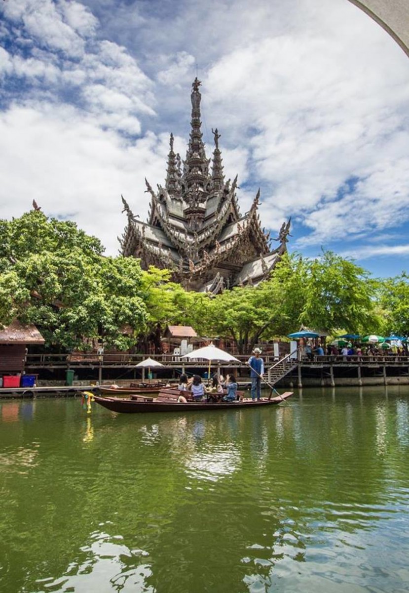
[{"label": "long dark wooden boat carrying seated passengers and a standing rower", "polygon": [[[172,392],[172,393],[170,393]],[[186,391],[163,390],[159,396],[144,397],[143,395],[134,396],[130,399],[121,399],[118,397],[98,397],[94,400],[100,406],[111,410],[111,412],[122,412],[125,414],[134,414],[141,412],[199,412],[205,410],[236,410],[241,408],[255,408],[260,406],[274,406],[285,401],[292,396],[292,391],[287,391],[281,396],[263,397],[260,400],[240,399],[236,401],[187,401],[179,403],[179,395],[186,396]]]}]

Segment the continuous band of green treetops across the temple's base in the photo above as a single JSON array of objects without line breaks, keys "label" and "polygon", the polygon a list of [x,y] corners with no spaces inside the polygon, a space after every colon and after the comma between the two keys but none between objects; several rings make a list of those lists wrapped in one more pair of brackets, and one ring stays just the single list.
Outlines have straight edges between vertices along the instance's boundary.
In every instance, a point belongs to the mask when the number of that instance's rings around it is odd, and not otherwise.
[{"label": "continuous band of green treetops across the temple's base", "polygon": [[327,333],[409,331],[405,274],[375,280],[349,259],[285,254],[268,280],[212,297],[188,292],[170,272],[141,270],[132,257],[105,257],[98,238],[33,210],[0,221],[0,321],[34,323],[47,347],[95,343],[128,349],[155,342],[166,325],[228,337],[240,353],[301,324]]}]

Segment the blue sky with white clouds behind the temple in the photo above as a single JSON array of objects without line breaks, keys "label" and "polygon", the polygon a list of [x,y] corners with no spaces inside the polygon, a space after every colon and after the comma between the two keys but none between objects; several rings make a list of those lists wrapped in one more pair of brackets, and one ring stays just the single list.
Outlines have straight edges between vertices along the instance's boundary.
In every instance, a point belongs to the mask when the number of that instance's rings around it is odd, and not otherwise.
[{"label": "blue sky with white clouds behind the temple", "polygon": [[196,75],[242,213],[260,188],[289,251],[409,271],[409,60],[347,0],[2,0],[1,218],[34,199],[117,254],[121,195],[146,220],[170,132],[185,155]]}]

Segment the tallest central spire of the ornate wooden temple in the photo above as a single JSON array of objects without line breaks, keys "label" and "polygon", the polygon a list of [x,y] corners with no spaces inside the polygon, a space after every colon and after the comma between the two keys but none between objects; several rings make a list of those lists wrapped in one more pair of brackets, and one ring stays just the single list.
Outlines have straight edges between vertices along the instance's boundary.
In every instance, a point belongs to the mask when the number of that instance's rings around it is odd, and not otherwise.
[{"label": "tallest central spire of the ornate wooden temple", "polygon": [[189,139],[188,151],[186,152],[185,170],[183,177],[186,181],[186,186],[191,187],[198,185],[204,187],[205,181],[208,180],[208,168],[210,160],[206,158],[204,143],[202,141],[202,132],[200,120],[200,101],[202,95],[199,91],[201,81],[195,78],[192,84],[191,101],[192,101],[192,120],[191,133]]}]

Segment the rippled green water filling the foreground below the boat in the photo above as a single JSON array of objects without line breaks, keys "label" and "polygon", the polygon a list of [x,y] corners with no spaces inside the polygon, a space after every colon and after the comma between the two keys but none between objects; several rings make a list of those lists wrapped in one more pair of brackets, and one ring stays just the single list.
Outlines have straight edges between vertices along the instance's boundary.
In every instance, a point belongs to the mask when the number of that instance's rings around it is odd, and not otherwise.
[{"label": "rippled green water filling the foreground below the boat", "polygon": [[115,415],[0,402],[0,591],[409,591],[409,388]]}]

